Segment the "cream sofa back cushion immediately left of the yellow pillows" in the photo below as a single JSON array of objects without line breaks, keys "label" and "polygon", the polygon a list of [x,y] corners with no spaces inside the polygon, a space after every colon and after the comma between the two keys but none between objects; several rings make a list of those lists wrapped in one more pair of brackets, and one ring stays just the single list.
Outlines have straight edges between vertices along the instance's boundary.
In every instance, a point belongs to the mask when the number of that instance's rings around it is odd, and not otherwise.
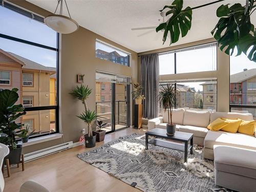
[{"label": "cream sofa back cushion immediately left of the yellow pillows", "polygon": [[191,111],[184,112],[183,125],[193,125],[207,127],[209,124],[210,112],[208,111]]}]

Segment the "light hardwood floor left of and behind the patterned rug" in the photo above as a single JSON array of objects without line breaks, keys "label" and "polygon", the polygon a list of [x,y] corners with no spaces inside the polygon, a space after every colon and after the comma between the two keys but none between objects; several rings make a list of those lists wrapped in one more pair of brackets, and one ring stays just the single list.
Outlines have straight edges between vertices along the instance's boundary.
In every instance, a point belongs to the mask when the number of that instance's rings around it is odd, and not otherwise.
[{"label": "light hardwood floor left of and behind the patterned rug", "polygon": [[[108,134],[103,142],[97,143],[96,147],[134,132],[143,134],[146,130],[128,128]],[[34,180],[52,192],[140,191],[77,158],[78,153],[89,150],[91,149],[80,145],[70,150],[27,162],[24,172],[22,172],[21,167],[11,168],[10,178],[7,177],[5,170],[4,192],[18,191],[20,185],[27,180]]]}]

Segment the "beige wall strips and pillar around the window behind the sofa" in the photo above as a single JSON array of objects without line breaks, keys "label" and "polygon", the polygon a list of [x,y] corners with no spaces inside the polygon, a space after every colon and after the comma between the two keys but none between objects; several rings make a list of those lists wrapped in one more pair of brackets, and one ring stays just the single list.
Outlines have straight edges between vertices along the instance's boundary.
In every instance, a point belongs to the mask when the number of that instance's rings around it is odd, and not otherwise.
[{"label": "beige wall strips and pillar around the window behind the sofa", "polygon": [[[186,47],[207,44],[209,42],[214,42],[214,41],[215,41],[214,38],[209,38],[205,40],[190,42],[188,44],[138,53],[138,55],[140,56],[140,55],[149,54],[149,53],[172,51],[172,50],[182,49]],[[202,79],[202,78],[218,79],[217,111],[228,112],[229,111],[229,55],[225,54],[220,49],[217,49],[217,71],[160,75],[160,80]]]}]

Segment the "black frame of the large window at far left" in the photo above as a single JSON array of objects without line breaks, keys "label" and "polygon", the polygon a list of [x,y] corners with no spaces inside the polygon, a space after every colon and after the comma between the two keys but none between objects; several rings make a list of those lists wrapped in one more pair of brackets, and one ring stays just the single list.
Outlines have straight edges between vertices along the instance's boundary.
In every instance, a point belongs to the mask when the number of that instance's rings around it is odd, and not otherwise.
[{"label": "black frame of the large window at far left", "polygon": [[[34,15],[31,19],[35,19],[37,22],[43,22],[44,21],[44,17],[39,16],[39,15],[35,15],[32,12],[29,12],[25,9],[22,9],[22,8],[19,8],[19,7],[16,7],[16,6],[12,6],[12,7],[15,7],[15,9],[10,8],[10,7],[8,7],[10,4],[8,4],[6,2],[4,2],[4,4],[2,4],[2,5],[6,9],[9,9],[9,10],[14,11],[14,12],[18,12],[18,13],[20,13],[22,15],[25,15],[25,16]],[[18,10],[18,11],[16,11],[16,10]],[[25,107],[25,111],[29,112],[29,111],[55,110],[55,129],[56,129],[56,131],[55,132],[44,133],[44,134],[39,134],[39,135],[34,135],[34,136],[31,136],[30,138],[38,138],[38,137],[47,136],[47,135],[59,134],[59,33],[56,32],[56,48],[46,46],[46,45],[42,45],[42,44],[38,44],[38,43],[33,42],[33,41],[29,41],[29,40],[9,36],[9,35],[2,34],[2,33],[0,33],[0,37],[4,38],[4,39],[15,41],[15,42],[21,42],[23,44],[28,44],[28,45],[32,45],[32,46],[36,46],[36,47],[39,47],[39,48],[44,48],[44,49],[48,49],[48,50],[52,50],[52,51],[56,52],[56,80],[57,80],[57,83],[56,83],[57,84],[57,86],[56,86],[56,99],[57,99],[56,105]],[[22,76],[22,78],[23,78],[23,76]],[[21,82],[20,84],[22,84],[22,86],[23,86],[23,82]],[[25,87],[31,87],[31,86],[25,86]]]}]

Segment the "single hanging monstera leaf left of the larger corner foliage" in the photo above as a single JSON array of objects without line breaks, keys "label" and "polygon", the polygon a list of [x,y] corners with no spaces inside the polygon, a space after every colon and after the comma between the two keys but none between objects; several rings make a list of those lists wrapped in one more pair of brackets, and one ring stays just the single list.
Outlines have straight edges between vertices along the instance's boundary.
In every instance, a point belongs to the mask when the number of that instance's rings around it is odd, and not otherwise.
[{"label": "single hanging monstera leaf left of the larger corner foliage", "polygon": [[192,10],[190,7],[182,10],[183,0],[175,0],[172,5],[164,6],[161,12],[168,8],[166,12],[166,16],[172,14],[172,16],[167,20],[167,22],[160,24],[156,28],[156,32],[160,30],[164,30],[163,33],[163,44],[166,41],[168,32],[170,32],[170,45],[174,44],[179,40],[180,33],[181,36],[186,36],[188,30],[191,28],[191,20],[192,20]]}]

